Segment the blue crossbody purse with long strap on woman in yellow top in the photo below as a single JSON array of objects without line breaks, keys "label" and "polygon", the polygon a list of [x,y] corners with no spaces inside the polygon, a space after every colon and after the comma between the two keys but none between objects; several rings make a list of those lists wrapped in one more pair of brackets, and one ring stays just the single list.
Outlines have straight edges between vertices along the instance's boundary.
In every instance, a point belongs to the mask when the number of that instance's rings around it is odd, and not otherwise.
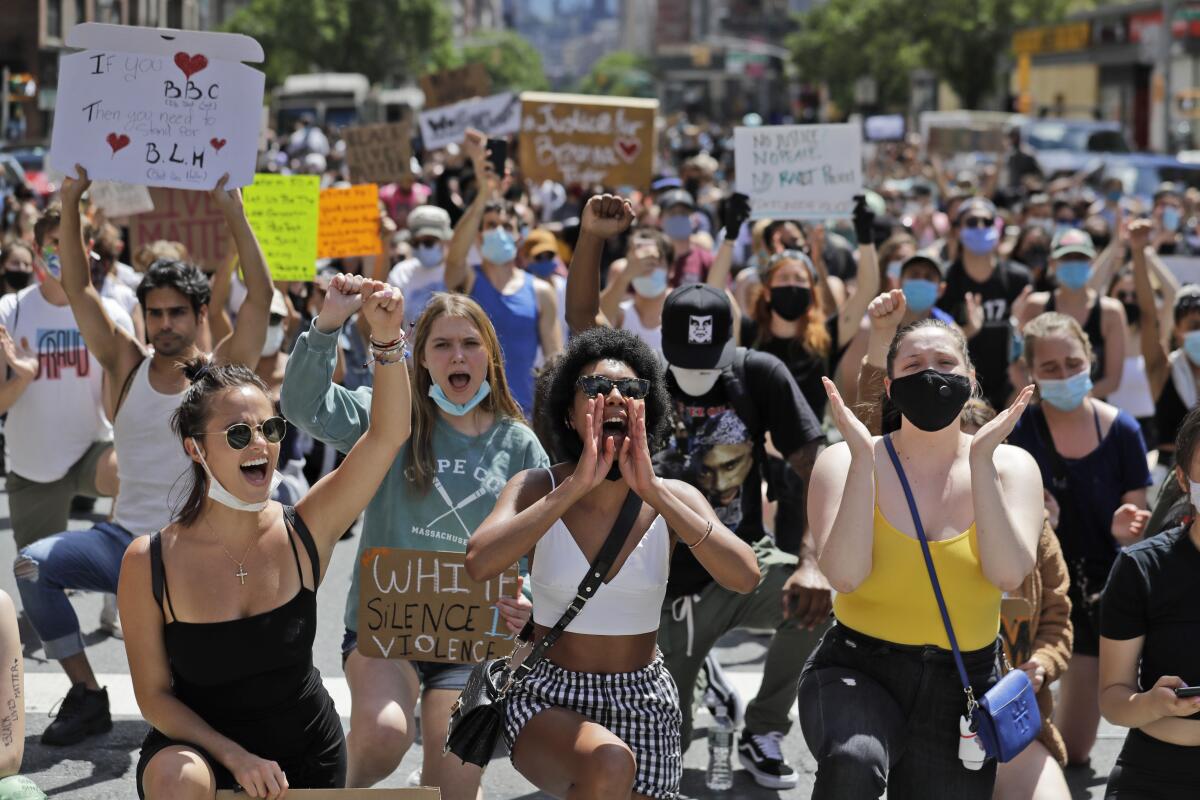
[{"label": "blue crossbody purse with long strap on woman in yellow top", "polygon": [[917,501],[912,497],[912,487],[908,486],[908,477],[905,475],[900,457],[892,445],[892,437],[884,437],[883,444],[888,449],[888,456],[892,457],[892,464],[896,468],[900,486],[904,487],[905,498],[908,500],[908,511],[912,512],[912,522],[917,527],[917,539],[920,540],[925,569],[929,570],[929,581],[934,585],[934,596],[937,597],[937,609],[942,613],[942,625],[946,626],[946,636],[950,640],[950,650],[954,652],[954,666],[958,667],[962,691],[967,696],[967,718],[971,721],[971,728],[979,736],[984,752],[990,758],[995,758],[997,762],[1009,762],[1025,750],[1042,729],[1042,712],[1038,709],[1033,684],[1030,682],[1030,676],[1025,674],[1025,670],[1009,669],[1007,675],[976,700],[974,690],[971,688],[971,681],[967,678],[967,669],[962,663],[962,654],[959,651],[959,643],[954,638],[954,628],[950,626],[950,614],[946,609],[942,587],[937,582],[934,557],[929,552],[929,540],[925,539],[925,529],[920,524],[920,513],[917,511]]}]

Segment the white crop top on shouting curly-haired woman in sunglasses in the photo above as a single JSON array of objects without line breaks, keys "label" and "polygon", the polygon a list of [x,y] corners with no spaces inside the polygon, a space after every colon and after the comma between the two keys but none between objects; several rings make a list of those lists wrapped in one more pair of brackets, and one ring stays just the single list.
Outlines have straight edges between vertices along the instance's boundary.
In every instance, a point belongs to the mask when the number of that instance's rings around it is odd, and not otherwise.
[{"label": "white crop top on shouting curly-haired woman in sunglasses", "polygon": [[[553,473],[550,482],[553,487]],[[562,519],[556,521],[534,548],[529,571],[533,621],[553,627],[575,600],[588,566],[590,560],[571,531]],[[670,569],[671,534],[666,519],[655,517],[617,575],[600,584],[566,630],[593,636],[634,636],[659,630]]]}]

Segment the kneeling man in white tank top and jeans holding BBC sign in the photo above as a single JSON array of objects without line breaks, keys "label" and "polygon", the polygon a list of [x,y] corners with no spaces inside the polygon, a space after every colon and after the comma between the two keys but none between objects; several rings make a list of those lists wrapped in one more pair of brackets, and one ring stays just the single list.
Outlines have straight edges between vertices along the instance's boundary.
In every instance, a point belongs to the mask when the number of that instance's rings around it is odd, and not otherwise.
[{"label": "kneeling man in white tank top and jeans holding BBC sign", "polygon": [[[62,182],[65,210],[79,207],[90,181]],[[224,179],[211,192],[233,234],[242,272],[246,302],[234,332],[217,344],[214,360],[256,365],[266,338],[271,276],[236,190],[226,192]],[[136,536],[158,530],[172,518],[172,491],[186,491],[191,459],[170,431],[187,379],[180,365],[200,355],[197,335],[208,318],[210,288],[196,266],[160,261],[138,287],[145,314],[148,353],[130,331],[114,324],[106,303],[91,285],[80,237],[80,215],[64,213],[60,229],[62,288],[88,350],[104,371],[106,408],[115,409],[114,447],[120,489],[113,522],[90,530],[56,534],[20,552],[13,572],[25,614],[42,638],[46,655],[62,664],[71,691],[58,716],[42,734],[47,745],[72,745],[113,726],[108,693],[84,652],[79,620],[65,590],[116,591],[125,548]],[[182,479],[182,480],[180,480]]]}]

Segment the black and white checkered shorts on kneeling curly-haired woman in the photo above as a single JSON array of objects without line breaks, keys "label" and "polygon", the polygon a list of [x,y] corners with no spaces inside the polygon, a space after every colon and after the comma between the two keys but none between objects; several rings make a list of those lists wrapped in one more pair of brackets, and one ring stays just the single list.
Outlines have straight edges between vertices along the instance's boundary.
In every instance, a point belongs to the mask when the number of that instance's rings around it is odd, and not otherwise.
[{"label": "black and white checkered shorts on kneeling curly-haired woman", "polygon": [[614,674],[571,672],[542,658],[509,692],[504,720],[509,752],[526,723],[550,708],[575,711],[629,745],[637,760],[634,792],[661,800],[678,795],[683,716],[679,692],[662,666],[662,654],[642,669]]}]

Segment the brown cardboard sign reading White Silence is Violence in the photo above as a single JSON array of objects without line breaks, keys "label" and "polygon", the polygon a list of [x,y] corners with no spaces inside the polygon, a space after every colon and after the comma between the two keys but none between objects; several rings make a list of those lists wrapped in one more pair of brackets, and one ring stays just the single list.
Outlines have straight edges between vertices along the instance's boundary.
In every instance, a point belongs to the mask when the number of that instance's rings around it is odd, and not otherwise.
[{"label": "brown cardboard sign reading White Silence is Violence", "polygon": [[478,663],[512,654],[496,601],[517,594],[517,567],[486,583],[464,553],[376,547],[359,564],[359,652],[374,658]]}]

